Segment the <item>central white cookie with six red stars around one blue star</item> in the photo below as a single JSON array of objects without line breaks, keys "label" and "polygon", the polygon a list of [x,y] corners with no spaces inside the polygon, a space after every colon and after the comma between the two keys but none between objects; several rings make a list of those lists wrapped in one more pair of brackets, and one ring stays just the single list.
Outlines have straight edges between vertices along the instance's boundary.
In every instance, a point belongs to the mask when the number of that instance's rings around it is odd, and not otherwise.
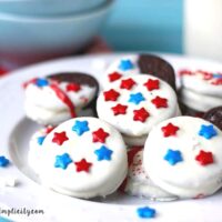
[{"label": "central white cookie with six red stars around one blue star", "polygon": [[132,74],[113,82],[100,93],[97,111],[130,145],[143,145],[157,123],[180,114],[174,90],[149,74]]}]

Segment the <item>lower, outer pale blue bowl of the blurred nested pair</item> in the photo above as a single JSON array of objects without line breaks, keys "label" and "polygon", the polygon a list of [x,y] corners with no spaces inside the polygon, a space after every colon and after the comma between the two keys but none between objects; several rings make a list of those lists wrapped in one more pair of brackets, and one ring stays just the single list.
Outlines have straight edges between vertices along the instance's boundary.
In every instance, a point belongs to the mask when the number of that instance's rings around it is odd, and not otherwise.
[{"label": "lower, outer pale blue bowl of the blurred nested pair", "polygon": [[0,63],[14,67],[69,56],[99,33],[112,0],[89,13],[32,18],[0,13]]}]

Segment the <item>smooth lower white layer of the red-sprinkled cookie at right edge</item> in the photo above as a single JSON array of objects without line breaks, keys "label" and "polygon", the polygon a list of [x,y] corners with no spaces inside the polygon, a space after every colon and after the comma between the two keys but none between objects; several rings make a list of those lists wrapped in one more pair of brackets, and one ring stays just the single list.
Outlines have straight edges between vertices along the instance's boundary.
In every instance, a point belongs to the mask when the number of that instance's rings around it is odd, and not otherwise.
[{"label": "smooth lower white layer of the red-sprinkled cookie at right edge", "polygon": [[185,88],[181,89],[180,95],[186,107],[201,112],[222,105],[222,97],[201,94]]}]

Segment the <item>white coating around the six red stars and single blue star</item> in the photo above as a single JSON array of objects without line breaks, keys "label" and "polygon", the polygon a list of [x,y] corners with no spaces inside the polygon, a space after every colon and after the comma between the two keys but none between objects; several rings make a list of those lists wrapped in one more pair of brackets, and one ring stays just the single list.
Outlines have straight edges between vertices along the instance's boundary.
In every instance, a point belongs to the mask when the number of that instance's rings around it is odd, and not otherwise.
[{"label": "white coating around the six red stars and single blue star", "polygon": [[[131,90],[120,89],[120,84],[122,80],[127,80],[131,78],[137,84]],[[160,89],[148,91],[148,89],[143,85],[148,80],[159,80]],[[115,90],[120,93],[120,97],[117,101],[105,101],[104,100],[104,92],[109,91],[110,89]],[[134,104],[129,102],[130,94],[133,93],[142,93],[144,97],[144,101],[141,101],[139,104]],[[158,109],[151,100],[155,97],[161,97],[168,100],[168,108],[160,108]],[[115,107],[118,103],[123,105],[128,105],[128,110],[125,114],[114,115],[112,108]],[[144,121],[134,121],[133,120],[133,111],[144,108],[150,117]],[[157,123],[178,115],[178,101],[176,95],[173,89],[165,83],[164,81],[149,75],[149,74],[134,74],[124,77],[118,81],[115,81],[110,88],[104,89],[97,101],[97,111],[100,119],[105,120],[113,127],[115,127],[121,133],[127,137],[142,137],[147,135],[150,130]]]}]

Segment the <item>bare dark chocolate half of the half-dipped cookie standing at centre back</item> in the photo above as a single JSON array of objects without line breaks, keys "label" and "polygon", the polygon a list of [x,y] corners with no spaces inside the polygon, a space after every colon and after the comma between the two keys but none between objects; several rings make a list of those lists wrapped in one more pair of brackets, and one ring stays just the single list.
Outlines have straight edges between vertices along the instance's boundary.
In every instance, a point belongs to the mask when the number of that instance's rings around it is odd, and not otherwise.
[{"label": "bare dark chocolate half of the half-dipped cookie standing at centre back", "polygon": [[168,82],[174,90],[175,72],[172,65],[160,57],[153,54],[140,54],[138,65],[141,73],[152,74]]}]

